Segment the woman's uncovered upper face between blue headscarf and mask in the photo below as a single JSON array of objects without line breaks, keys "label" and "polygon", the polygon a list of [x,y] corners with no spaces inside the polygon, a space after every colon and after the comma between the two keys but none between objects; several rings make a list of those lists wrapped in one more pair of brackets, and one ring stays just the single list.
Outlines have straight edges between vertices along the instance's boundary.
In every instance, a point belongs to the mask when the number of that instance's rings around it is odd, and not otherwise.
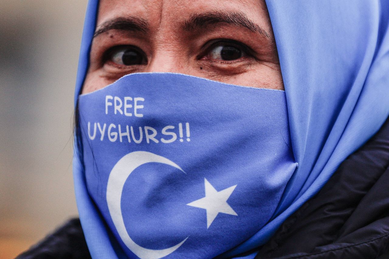
[{"label": "woman's uncovered upper face between blue headscarf and mask", "polygon": [[82,93],[137,72],[284,89],[262,0],[100,0]]}]

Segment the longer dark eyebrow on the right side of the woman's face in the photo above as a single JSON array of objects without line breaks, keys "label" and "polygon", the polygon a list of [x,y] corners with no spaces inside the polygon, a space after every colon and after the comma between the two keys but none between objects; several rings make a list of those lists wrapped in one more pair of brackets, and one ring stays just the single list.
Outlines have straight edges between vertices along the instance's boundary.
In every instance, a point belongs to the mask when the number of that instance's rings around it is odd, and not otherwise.
[{"label": "longer dark eyebrow on the right side of the woman's face", "polygon": [[265,30],[247,18],[246,14],[243,12],[205,12],[193,14],[189,19],[184,20],[183,28],[186,31],[191,31],[217,23],[235,25],[251,32],[262,34],[266,38],[271,39]]}]

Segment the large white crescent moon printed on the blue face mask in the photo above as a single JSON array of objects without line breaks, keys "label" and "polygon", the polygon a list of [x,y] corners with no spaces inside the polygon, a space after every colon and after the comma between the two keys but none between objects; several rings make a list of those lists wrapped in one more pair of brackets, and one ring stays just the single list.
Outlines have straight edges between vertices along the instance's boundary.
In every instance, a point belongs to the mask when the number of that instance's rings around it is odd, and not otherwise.
[{"label": "large white crescent moon printed on the blue face mask", "polygon": [[178,165],[163,156],[158,156],[146,151],[135,151],[126,154],[116,163],[110,172],[107,184],[108,210],[116,227],[117,233],[119,233],[119,236],[128,249],[141,259],[159,259],[167,256],[178,249],[187,240],[187,238],[185,238],[173,247],[153,250],[137,245],[128,235],[126,227],[124,226],[123,215],[121,213],[121,194],[123,186],[133,170],[135,170],[138,166],[151,162],[170,165],[184,172],[184,170],[182,170]]}]

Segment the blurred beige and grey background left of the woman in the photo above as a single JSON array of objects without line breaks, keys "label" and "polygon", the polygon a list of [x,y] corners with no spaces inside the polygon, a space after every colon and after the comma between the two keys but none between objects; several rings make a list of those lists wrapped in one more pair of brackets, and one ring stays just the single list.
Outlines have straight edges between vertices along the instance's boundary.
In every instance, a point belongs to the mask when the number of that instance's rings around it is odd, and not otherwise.
[{"label": "blurred beige and grey background left of the woman", "polygon": [[77,217],[73,93],[86,0],[0,0],[0,258]]}]

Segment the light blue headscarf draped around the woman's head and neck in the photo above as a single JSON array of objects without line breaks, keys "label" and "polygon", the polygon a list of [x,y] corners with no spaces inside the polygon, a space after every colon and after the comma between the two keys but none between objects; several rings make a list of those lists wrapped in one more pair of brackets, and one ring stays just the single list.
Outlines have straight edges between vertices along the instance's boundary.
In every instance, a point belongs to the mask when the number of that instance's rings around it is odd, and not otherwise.
[{"label": "light blue headscarf draped around the woman's head and neck", "polygon": [[[340,163],[389,115],[389,2],[266,1],[284,80],[293,153],[299,167],[272,219],[224,254],[264,244],[282,222],[316,194]],[[89,0],[75,104],[89,64],[98,0]],[[118,245],[91,200],[75,145],[74,185],[92,257],[118,258]]]}]

